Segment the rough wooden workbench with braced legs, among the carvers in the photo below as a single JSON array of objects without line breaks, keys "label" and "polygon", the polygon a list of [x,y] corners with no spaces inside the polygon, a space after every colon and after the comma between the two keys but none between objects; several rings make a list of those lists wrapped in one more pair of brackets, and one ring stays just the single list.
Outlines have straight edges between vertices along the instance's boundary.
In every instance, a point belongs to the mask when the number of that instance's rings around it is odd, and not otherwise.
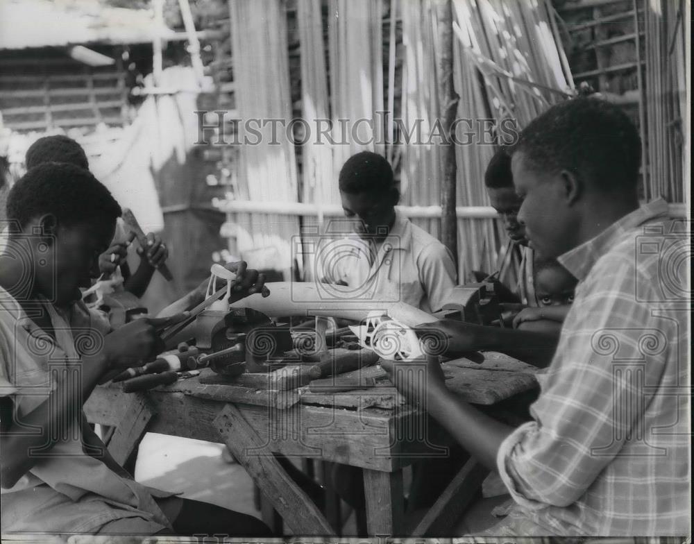
[{"label": "rough wooden workbench with braced legs, among the carvers", "polygon": [[[484,362],[443,364],[449,389],[470,402],[493,405],[535,384],[532,366],[488,352]],[[379,375],[380,368],[362,373]],[[144,432],[226,443],[287,527],[298,535],[336,531],[274,454],[334,461],[363,468],[369,535],[403,532],[403,468],[415,459],[446,455],[428,436],[428,418],[390,385],[347,393],[312,393],[210,385],[201,376],[147,393],[123,393],[117,384],[97,387],[85,403],[90,423],[117,427],[108,447],[118,461],[133,452]],[[205,380],[203,380],[205,381]],[[484,471],[467,464],[415,533],[442,518],[455,491],[481,482]],[[453,496],[455,495],[455,496]],[[446,500],[443,500],[446,499]],[[459,506],[459,502],[458,505]],[[405,535],[402,535],[405,536]]]}]

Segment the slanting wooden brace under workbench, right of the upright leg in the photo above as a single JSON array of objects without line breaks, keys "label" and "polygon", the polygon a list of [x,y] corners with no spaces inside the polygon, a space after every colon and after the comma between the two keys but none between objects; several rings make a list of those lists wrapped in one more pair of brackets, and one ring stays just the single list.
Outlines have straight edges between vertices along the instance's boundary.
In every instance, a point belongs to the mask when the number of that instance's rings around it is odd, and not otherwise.
[{"label": "slanting wooden brace under workbench, right of the upright leg", "polygon": [[487,468],[474,459],[469,459],[443,490],[437,502],[425,513],[410,536],[447,534],[475,498],[477,490],[488,474]]}]

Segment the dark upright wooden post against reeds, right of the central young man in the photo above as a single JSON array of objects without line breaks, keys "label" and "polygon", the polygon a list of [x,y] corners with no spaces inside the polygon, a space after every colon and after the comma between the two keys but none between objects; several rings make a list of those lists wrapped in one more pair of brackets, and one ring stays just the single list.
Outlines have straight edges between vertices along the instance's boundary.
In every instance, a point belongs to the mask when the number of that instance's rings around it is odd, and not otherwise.
[{"label": "dark upright wooden post against reeds, right of the central young man", "polygon": [[448,142],[441,147],[443,180],[441,180],[441,241],[458,266],[458,220],[455,215],[455,146],[450,127],[455,119],[459,96],[453,88],[453,10],[451,0],[437,0],[436,17],[439,34],[439,111],[443,133]]}]

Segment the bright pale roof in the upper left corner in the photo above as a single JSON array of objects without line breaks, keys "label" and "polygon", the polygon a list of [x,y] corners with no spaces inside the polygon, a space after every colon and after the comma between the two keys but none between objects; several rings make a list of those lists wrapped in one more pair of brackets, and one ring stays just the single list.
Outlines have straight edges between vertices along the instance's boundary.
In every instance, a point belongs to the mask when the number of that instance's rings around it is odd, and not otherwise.
[{"label": "bright pale roof in the upper left corner", "polygon": [[[152,10],[111,8],[97,0],[0,0],[0,49],[144,43],[156,30]],[[160,35],[175,33],[164,26]]]}]

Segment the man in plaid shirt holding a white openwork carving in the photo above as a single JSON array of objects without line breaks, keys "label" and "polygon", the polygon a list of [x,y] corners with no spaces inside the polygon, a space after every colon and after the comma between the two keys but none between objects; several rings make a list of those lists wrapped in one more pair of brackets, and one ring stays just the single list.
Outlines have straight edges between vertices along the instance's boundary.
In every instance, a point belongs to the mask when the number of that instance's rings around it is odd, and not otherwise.
[{"label": "man in plaid shirt holding a white openwork carving", "polygon": [[[532,420],[511,427],[456,398],[430,357],[426,385],[386,364],[480,463],[515,507],[494,536],[686,536],[689,509],[687,257],[664,201],[639,207],[641,143],[614,105],[578,98],[523,130],[513,153],[531,246],[579,284]],[[449,353],[484,330],[423,325]]]}]

